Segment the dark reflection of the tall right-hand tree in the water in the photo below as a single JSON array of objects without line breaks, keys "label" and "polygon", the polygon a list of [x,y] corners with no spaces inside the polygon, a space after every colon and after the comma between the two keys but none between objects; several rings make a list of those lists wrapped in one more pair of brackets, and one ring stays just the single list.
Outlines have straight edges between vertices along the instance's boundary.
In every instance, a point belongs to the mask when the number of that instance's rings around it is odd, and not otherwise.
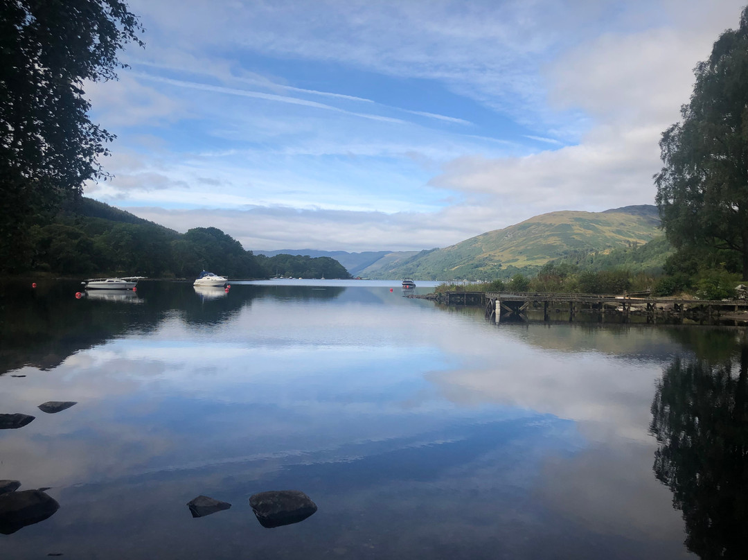
[{"label": "dark reflection of the tall right-hand tree in the water", "polygon": [[[739,363],[738,363],[739,356]],[[652,402],[654,474],[702,559],[748,551],[748,345],[725,359],[675,359]]]}]

